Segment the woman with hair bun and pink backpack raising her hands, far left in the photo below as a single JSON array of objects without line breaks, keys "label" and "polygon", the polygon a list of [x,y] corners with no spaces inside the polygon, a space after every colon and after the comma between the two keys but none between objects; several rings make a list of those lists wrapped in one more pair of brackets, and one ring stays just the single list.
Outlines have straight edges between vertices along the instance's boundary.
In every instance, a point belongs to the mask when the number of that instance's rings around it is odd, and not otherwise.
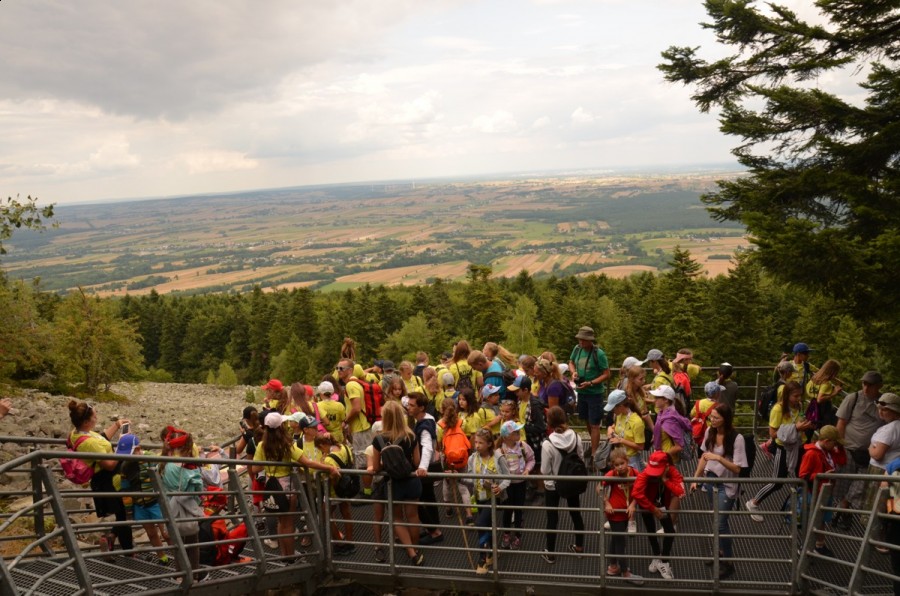
[{"label": "woman with hair bun and pink backpack raising her hands, far left", "polygon": [[[110,424],[103,432],[94,429],[97,426],[97,410],[83,401],[69,400],[69,420],[74,429],[69,433],[69,441],[78,453],[112,453],[110,440],[115,438],[122,427],[130,422],[119,419]],[[82,438],[83,437],[83,438]],[[80,441],[80,442],[79,442]],[[93,461],[94,475],[91,477],[91,491],[97,493],[114,493],[113,477],[119,462],[114,459],[98,459]],[[117,522],[126,521],[125,504],[121,497],[94,497],[94,509],[97,517],[115,515]],[[123,550],[134,548],[131,526],[115,526],[111,532],[100,537],[100,550],[112,550],[116,539]]]}]

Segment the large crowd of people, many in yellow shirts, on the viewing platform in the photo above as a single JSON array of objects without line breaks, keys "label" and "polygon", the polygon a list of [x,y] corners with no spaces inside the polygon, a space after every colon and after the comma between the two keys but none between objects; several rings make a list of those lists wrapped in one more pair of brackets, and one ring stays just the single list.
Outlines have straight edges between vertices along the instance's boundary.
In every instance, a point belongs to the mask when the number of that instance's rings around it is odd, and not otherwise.
[{"label": "large crowd of people, many in yellow shirts, on the viewing platform", "polygon": [[[735,427],[738,386],[730,364],[722,363],[715,378],[703,385],[703,395],[695,395],[692,384],[700,368],[688,349],[671,360],[658,349],[650,349],[643,360],[629,357],[614,379],[591,328],[579,329],[575,342],[571,353],[560,358],[552,352],[516,355],[493,342],[473,350],[459,341],[436,364],[419,352],[415,362],[395,367],[377,359],[364,368],[348,339],[334,370],[317,384],[285,387],[280,380],[270,380],[263,386],[262,407],[248,406],[242,414],[237,452],[255,462],[284,464],[250,465],[254,505],[280,514],[267,533],[277,539],[282,556],[295,556],[294,528],[302,523],[291,496],[298,489],[292,484],[291,463],[328,473],[332,496],[355,496],[354,505],[371,500],[376,522],[385,519],[385,502],[392,503],[396,523],[389,531],[410,565],[424,564],[419,545],[444,539],[439,527],[443,509],[475,533],[478,557],[473,566],[478,574],[488,573],[495,564],[494,524],[499,526],[500,551],[522,548],[526,513],[521,506],[540,499],[548,530],[544,562],[555,563],[560,550],[584,552],[581,495],[587,482],[530,478],[580,474],[580,465],[586,474],[604,475],[596,489],[610,530],[606,572],[636,584],[642,578],[628,565],[627,535],[637,531],[641,520],[653,553],[648,571],[673,579],[670,557],[679,504],[698,489],[708,495],[710,509],[720,513],[719,577],[735,573],[728,513],[743,503],[751,518],[762,522],[761,504],[783,486],[765,483],[742,501],[742,485],[727,481],[750,470],[757,450],[773,460],[775,478],[802,478],[810,488],[823,473],[884,474],[900,468],[900,397],[881,392],[883,380],[877,371],[867,372],[861,388],[841,399],[847,384],[838,378],[840,365],[828,360],[817,369],[809,362],[810,348],[796,344],[793,354],[776,367],[777,400],[766,412],[769,439],[757,445]],[[127,421],[97,432],[94,408],[73,401],[70,410],[72,443],[79,435],[89,436],[78,450],[111,453]],[[589,441],[570,428],[574,416],[586,425]],[[163,436],[164,453],[196,456],[189,437],[169,429]],[[122,437],[119,445],[123,441],[130,443]],[[700,480],[686,486],[679,466]],[[117,461],[98,460],[94,467],[94,490],[119,488],[114,481]],[[187,483],[202,490],[203,475],[184,472],[186,467],[161,466],[167,489],[184,491]],[[351,467],[368,472],[358,487],[342,479],[341,470]],[[438,483],[429,477],[435,472],[471,477],[451,476]],[[704,478],[725,482],[713,490]],[[871,507],[877,488],[877,483],[836,482],[834,503]],[[353,515],[348,502],[338,502],[343,523],[332,526],[332,548],[335,555],[345,555],[356,548]],[[492,503],[506,507],[496,519]],[[127,519],[122,499],[97,498],[95,506],[98,514]],[[556,529],[563,508],[576,532],[571,544],[560,547]],[[158,520],[153,515],[142,512],[134,519],[147,527]],[[849,515],[827,517],[838,528],[852,522]],[[885,524],[881,538],[896,544],[897,526]],[[128,525],[116,525],[113,534],[104,539],[131,547]],[[374,534],[375,558],[385,561],[381,524],[374,525]],[[159,537],[151,535],[151,540],[162,544]],[[814,548],[820,555],[832,555],[824,539]],[[891,551],[891,556],[896,573],[900,554]]]}]

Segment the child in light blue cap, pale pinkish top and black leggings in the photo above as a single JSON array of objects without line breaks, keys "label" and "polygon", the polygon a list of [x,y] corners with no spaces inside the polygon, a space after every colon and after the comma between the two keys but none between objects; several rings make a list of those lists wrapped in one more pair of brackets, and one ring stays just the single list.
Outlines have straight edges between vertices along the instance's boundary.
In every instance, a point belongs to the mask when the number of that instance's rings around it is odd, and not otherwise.
[{"label": "child in light blue cap, pale pinkish top and black leggings", "polygon": [[[513,407],[509,409],[515,415],[515,402],[506,400],[503,404],[512,404]],[[525,482],[525,476],[528,476],[534,469],[534,451],[527,443],[522,441],[520,434],[522,426],[515,420],[507,420],[500,426],[500,438],[497,441],[500,453],[506,458],[509,473],[523,477],[522,480],[511,481],[506,491],[507,497],[504,505],[507,509],[503,510],[504,529],[512,528],[513,523],[515,523],[517,530],[522,529],[524,522],[522,507],[525,506],[525,487],[528,484]],[[513,518],[515,518],[515,521],[513,521]],[[500,548],[519,550],[521,546],[522,532],[516,531],[513,536],[510,536],[509,532],[503,532]]]}]

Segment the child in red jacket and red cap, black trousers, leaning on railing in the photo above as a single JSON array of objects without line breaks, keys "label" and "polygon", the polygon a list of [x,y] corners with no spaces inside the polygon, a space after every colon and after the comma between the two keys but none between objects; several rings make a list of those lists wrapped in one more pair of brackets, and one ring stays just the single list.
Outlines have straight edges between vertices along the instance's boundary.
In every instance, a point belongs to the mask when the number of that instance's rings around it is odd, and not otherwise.
[{"label": "child in red jacket and red cap, black trousers, leaning on railing", "polygon": [[[669,555],[675,544],[675,525],[671,513],[678,509],[684,494],[684,478],[678,468],[672,465],[672,460],[665,451],[654,452],[647,467],[634,481],[632,497],[641,508],[644,527],[650,532],[650,550],[653,551],[654,559],[650,562],[649,569],[651,573],[659,572],[663,579],[675,579],[669,563]],[[661,551],[656,536],[657,520],[664,531]]]}]

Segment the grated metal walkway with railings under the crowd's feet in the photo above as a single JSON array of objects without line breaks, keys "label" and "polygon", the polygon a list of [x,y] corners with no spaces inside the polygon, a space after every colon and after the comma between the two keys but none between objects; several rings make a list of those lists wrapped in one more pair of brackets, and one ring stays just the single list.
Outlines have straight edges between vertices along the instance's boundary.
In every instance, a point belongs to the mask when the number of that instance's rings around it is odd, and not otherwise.
[{"label": "grated metal walkway with railings under the crowd's feet", "polygon": [[[0,437],[0,442],[7,440],[25,441],[22,438]],[[594,482],[582,498],[581,510],[586,527],[585,554],[575,555],[566,551],[566,547],[574,542],[574,533],[569,516],[561,511],[556,563],[550,565],[541,559],[546,530],[542,501],[538,499],[523,509],[525,529],[522,550],[495,549],[496,564],[491,572],[476,575],[472,561],[477,560],[478,553],[471,547],[477,542],[477,532],[462,527],[456,516],[448,517],[444,505],[440,506],[440,511],[445,538],[437,545],[419,547],[425,554],[422,567],[409,565],[405,551],[399,546],[387,549],[390,554],[387,563],[375,561],[375,524],[370,501],[359,500],[357,505],[361,506],[352,508],[356,552],[336,555],[329,523],[332,500],[325,493],[327,487],[311,479],[298,492],[305,518],[301,521],[298,516],[295,523],[298,548],[303,538],[309,540],[310,546],[300,548],[303,557],[296,561],[280,557],[275,549],[265,545],[264,540],[268,536],[265,535],[264,520],[249,506],[252,499],[246,489],[246,478],[239,473],[238,466],[247,462],[239,460],[221,460],[223,465],[231,466],[227,468],[223,486],[229,495],[230,506],[223,515],[230,523],[249,521],[243,553],[249,560],[223,567],[203,568],[200,571],[205,577],[203,581],[198,581],[199,576],[189,577],[177,571],[171,563],[163,566],[151,562],[155,561],[155,549],[146,543],[137,545],[134,551],[101,552],[95,538],[101,529],[108,529],[114,523],[108,520],[99,523],[72,521],[88,512],[73,509],[73,499],[89,498],[92,493],[83,489],[62,488],[67,483],[61,482],[56,460],[63,454],[60,450],[35,451],[0,466],[2,474],[23,474],[32,481],[31,491],[15,494],[3,491],[0,497],[28,497],[29,502],[34,502],[15,513],[0,513],[0,546],[8,553],[10,549],[7,545],[21,545],[17,555],[0,559],[0,596],[173,594],[184,591],[227,596],[285,587],[311,594],[315,587],[323,583],[346,579],[385,589],[415,586],[435,590],[537,594],[559,594],[561,589],[572,594],[658,593],[661,590],[672,593],[742,594],[894,593],[891,581],[896,576],[891,575],[890,557],[874,549],[880,544],[873,538],[877,535],[877,522],[887,516],[873,516],[873,511],[857,512],[849,532],[838,533],[830,526],[817,525],[816,520],[827,508],[821,507],[819,501],[811,512],[802,506],[798,511],[798,505],[805,503],[806,495],[803,483],[797,480],[784,480],[779,492],[764,503],[763,523],[751,521],[743,510],[730,514],[737,572],[725,581],[717,579],[714,555],[718,552],[714,548],[717,531],[714,522],[719,513],[711,510],[706,494],[697,491],[689,496],[678,514],[671,557],[674,580],[663,580],[659,574],[648,572],[647,566],[653,557],[649,535],[639,522],[639,533],[627,539],[631,570],[645,579],[642,586],[636,586],[622,579],[605,577],[605,549],[609,537],[608,532],[603,530],[600,497],[593,490]],[[104,456],[109,459],[133,457]],[[152,457],[146,459],[161,461]],[[168,458],[167,461],[180,460]],[[686,472],[687,480],[693,472],[693,463],[682,463],[681,469]],[[760,478],[770,473],[771,464],[760,454],[756,460],[754,478],[745,481],[750,486],[741,501],[746,500],[747,494],[755,492]],[[460,476],[455,475],[457,478]],[[882,479],[871,477],[872,481]],[[297,480],[299,483],[300,478],[297,477]],[[436,492],[440,496],[441,491]],[[788,498],[789,505],[785,511],[779,511],[785,498]],[[318,505],[310,508],[309,503]],[[389,506],[385,509],[387,512],[391,510]],[[496,506],[495,519],[502,516],[502,509],[502,505]],[[807,517],[813,520],[813,524],[803,523]],[[388,530],[390,513],[385,514],[385,519],[383,540],[393,542],[393,532]],[[341,526],[339,513],[335,521]],[[397,520],[397,523],[401,522]],[[166,524],[173,537],[169,552],[175,558],[185,557],[184,545],[174,524],[171,520]],[[304,524],[307,530],[304,530]],[[495,545],[502,534],[502,529],[498,529],[497,525],[493,530]],[[810,525],[832,534],[827,536],[827,544],[835,553],[834,559],[809,554],[814,532],[819,531],[804,529]],[[182,560],[186,562],[186,559]],[[712,566],[707,565],[709,563]]]}]

